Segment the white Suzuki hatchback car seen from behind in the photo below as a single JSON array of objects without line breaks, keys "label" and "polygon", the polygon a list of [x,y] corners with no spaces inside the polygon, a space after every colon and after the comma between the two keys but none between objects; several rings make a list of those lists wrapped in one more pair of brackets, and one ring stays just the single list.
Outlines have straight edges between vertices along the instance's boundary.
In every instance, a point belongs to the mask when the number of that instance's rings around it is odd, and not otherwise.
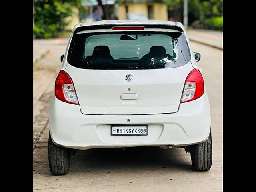
[{"label": "white Suzuki hatchback car seen from behind", "polygon": [[192,167],[212,165],[210,106],[180,22],[77,24],[55,81],[49,166],[68,173],[74,150],[185,148]]}]

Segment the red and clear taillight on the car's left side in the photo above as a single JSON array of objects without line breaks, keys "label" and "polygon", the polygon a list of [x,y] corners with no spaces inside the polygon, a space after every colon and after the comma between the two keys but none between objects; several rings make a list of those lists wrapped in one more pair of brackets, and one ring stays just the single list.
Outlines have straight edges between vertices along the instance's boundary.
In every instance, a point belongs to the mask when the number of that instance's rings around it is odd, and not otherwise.
[{"label": "red and clear taillight on the car's left side", "polygon": [[78,105],[76,90],[70,76],[61,70],[55,80],[55,96],[59,100]]}]

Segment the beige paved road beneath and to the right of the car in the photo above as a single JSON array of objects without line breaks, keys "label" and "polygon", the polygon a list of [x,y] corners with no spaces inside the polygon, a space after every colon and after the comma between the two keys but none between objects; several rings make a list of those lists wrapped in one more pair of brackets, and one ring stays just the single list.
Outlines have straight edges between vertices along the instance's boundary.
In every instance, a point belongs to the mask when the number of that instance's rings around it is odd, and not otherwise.
[{"label": "beige paved road beneath and to the right of the car", "polygon": [[[194,172],[190,154],[184,149],[165,150],[156,146],[79,151],[72,157],[67,175],[52,176],[48,168],[47,125],[34,149],[34,191],[222,191],[222,51],[191,44],[194,52],[202,54],[198,65],[202,68],[211,106],[213,162],[208,172]],[[51,86],[48,94],[50,89],[53,91]],[[41,98],[43,102],[48,106],[49,97]]]}]

